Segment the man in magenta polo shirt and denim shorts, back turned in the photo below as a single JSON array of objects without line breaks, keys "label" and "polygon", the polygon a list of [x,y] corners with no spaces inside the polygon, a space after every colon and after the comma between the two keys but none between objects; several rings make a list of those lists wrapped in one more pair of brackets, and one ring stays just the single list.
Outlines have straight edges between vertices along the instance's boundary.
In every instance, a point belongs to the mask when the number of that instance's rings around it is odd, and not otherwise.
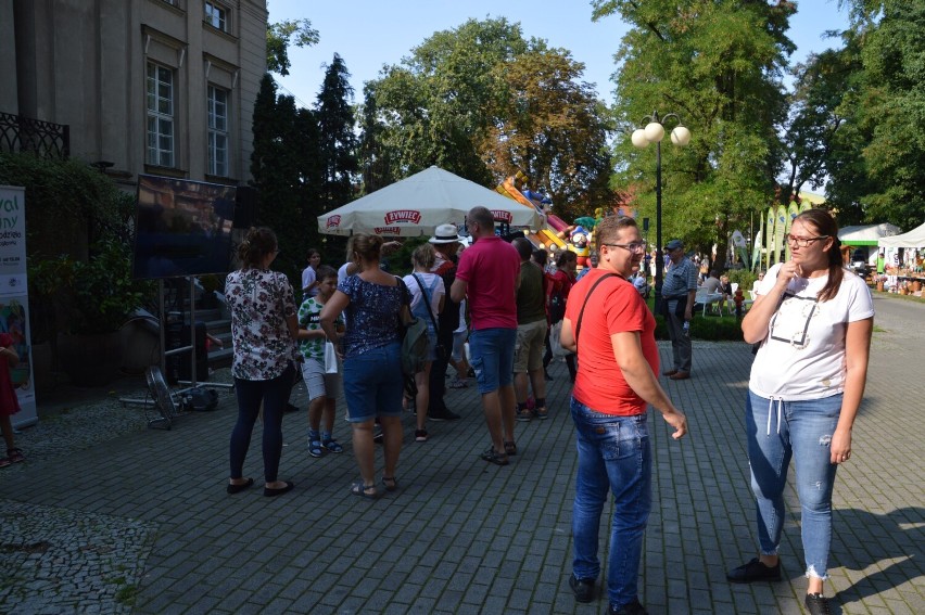
[{"label": "man in magenta polo shirt and denim shorts, back turned", "polygon": [[517,284],[520,256],[512,245],[495,236],[495,219],[485,207],[466,217],[474,242],[459,257],[449,298],[469,302],[469,354],[482,409],[492,437],[482,454],[489,463],[507,465],[517,452],[514,444],[514,346],[517,341]]}]

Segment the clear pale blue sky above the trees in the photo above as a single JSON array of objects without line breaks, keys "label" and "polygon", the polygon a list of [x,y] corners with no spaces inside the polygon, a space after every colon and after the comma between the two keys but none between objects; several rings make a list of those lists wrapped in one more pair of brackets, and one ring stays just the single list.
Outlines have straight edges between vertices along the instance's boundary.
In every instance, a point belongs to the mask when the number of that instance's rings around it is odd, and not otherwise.
[{"label": "clear pale blue sky above the trees", "polygon": [[[613,54],[628,29],[616,15],[592,22],[587,0],[267,0],[267,8],[270,22],[308,18],[320,35],[314,47],[290,48],[289,76],[274,75],[280,93],[294,95],[302,106],[314,105],[334,53],[351,73],[354,102],[359,103],[363,85],[378,78],[383,64],[398,64],[436,31],[487,17],[520,23],[524,38],[543,38],[550,47],[569,50],[573,60],[585,64],[584,80],[596,84],[598,95],[610,104]],[[839,12],[836,0],[798,0],[797,9],[790,18],[789,36],[797,44],[791,62],[838,44],[838,39],[823,38],[825,30],[847,27],[848,15]]]}]

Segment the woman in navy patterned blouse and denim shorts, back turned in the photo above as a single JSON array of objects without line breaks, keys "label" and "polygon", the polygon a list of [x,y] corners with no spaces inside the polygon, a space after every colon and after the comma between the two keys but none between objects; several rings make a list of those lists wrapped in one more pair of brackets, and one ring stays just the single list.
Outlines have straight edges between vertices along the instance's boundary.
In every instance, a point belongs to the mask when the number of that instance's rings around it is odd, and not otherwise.
[{"label": "woman in navy patterned blouse and denim shorts, back turned", "polygon": [[325,304],[319,317],[328,339],[337,339],[334,321],[346,312],[342,338],[344,355],[344,398],[353,426],[353,450],[362,482],[352,492],[375,499],[376,486],[372,425],[376,417],[384,435],[385,469],[382,485],[387,491],[398,488],[395,466],[402,450],[402,343],[398,313],[407,309],[404,283],[379,268],[382,238],[354,235],[353,259],[359,272],[342,282]]}]

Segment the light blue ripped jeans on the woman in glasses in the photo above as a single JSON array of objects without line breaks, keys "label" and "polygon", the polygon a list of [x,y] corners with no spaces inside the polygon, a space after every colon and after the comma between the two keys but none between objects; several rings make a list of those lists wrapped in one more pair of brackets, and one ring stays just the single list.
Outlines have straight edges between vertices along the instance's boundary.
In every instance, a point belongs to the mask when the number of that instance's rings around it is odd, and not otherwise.
[{"label": "light blue ripped jeans on the woman in glasses", "polygon": [[782,401],[748,393],[748,461],[751,490],[758,503],[761,554],[776,554],[781,544],[784,488],[793,458],[808,578],[828,578],[832,488],[837,467],[829,461],[829,444],[841,412],[841,397],[838,394],[822,399]]}]

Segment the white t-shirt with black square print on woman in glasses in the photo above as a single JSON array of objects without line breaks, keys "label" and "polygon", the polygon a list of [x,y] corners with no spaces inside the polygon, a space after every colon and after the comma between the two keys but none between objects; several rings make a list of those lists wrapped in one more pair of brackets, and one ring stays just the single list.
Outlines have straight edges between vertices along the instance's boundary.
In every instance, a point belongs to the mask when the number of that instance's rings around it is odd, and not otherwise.
[{"label": "white t-shirt with black square print on woman in glasses", "polygon": [[[774,287],[781,264],[758,284],[758,294]],[[874,316],[867,285],[845,270],[838,294],[818,302],[828,276],[795,278],[768,326],[751,366],[749,388],[761,397],[786,401],[831,397],[845,390],[845,333],[849,322]]]}]

